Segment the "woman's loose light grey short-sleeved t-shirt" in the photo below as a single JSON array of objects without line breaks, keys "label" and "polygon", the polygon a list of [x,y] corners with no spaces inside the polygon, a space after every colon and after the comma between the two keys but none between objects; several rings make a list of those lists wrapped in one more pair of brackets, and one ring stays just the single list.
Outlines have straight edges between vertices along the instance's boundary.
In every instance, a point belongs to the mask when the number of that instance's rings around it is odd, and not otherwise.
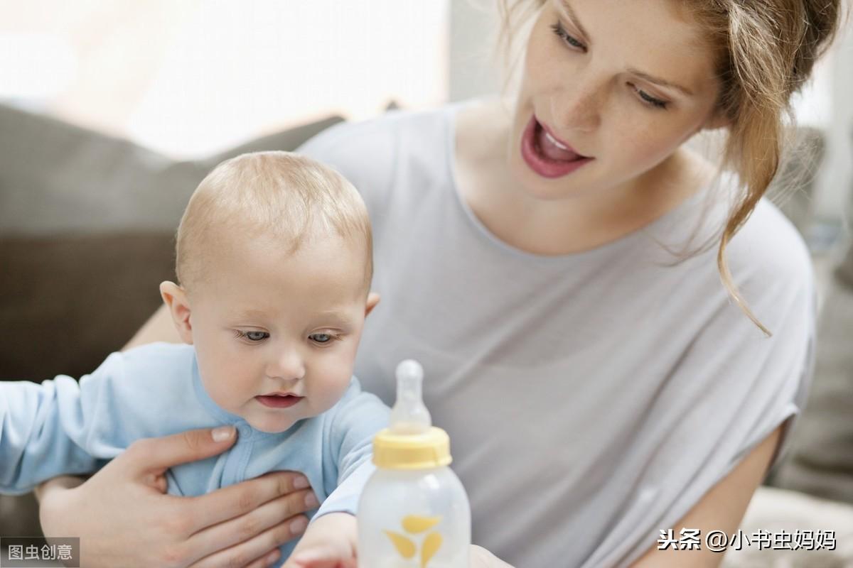
[{"label": "woman's loose light grey short-sleeved t-shirt", "polygon": [[475,543],[519,568],[627,565],[802,408],[809,255],[767,202],[730,244],[767,338],[729,300],[715,248],[671,254],[717,230],[720,188],[595,250],[514,249],[457,191],[457,110],[345,123],[301,148],[353,182],[374,224],[382,300],[356,374],[392,404],[396,364],[424,365]]}]

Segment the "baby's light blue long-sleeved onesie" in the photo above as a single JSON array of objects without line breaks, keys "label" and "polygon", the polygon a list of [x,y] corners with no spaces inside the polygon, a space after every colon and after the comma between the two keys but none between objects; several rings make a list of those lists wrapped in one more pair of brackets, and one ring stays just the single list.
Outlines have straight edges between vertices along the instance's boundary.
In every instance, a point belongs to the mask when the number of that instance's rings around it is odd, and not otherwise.
[{"label": "baby's light blue long-sleeved onesie", "polygon": [[[319,513],[355,513],[372,470],[374,433],[387,420],[386,405],[353,377],[330,410],[285,432],[260,432],[210,399],[192,346],[155,343],[113,353],[79,383],[62,375],[40,385],[0,383],[0,492],[25,493],[56,475],[94,472],[137,439],[233,424],[235,445],[171,468],[169,493],[198,496],[289,469],[305,473],[322,503]],[[281,547],[282,559],[294,545]]]}]

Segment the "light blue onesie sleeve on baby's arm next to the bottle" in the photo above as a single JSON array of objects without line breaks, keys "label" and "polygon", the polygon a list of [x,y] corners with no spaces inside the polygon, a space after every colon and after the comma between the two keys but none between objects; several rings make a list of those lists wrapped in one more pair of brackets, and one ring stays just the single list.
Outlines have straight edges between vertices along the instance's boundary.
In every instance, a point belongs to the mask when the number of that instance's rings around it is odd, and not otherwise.
[{"label": "light blue onesie sleeve on baby's arm next to the bottle", "polygon": [[388,407],[373,394],[364,393],[355,378],[336,409],[329,444],[330,467],[336,475],[323,478],[329,484],[335,479],[337,483],[325,488],[328,498],[315,518],[325,513],[356,513],[358,497],[374,470],[374,436],[388,425]]}]

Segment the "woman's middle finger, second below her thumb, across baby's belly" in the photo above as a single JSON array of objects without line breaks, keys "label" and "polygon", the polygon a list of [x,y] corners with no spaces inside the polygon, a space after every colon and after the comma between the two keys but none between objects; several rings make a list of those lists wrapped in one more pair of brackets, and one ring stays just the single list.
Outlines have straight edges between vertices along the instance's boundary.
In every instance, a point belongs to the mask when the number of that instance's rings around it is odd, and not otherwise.
[{"label": "woman's middle finger, second below her thumb, across baby's belly", "polygon": [[190,537],[189,544],[203,551],[202,555],[210,554],[214,550],[245,542],[276,525],[285,525],[289,531],[287,541],[293,540],[305,532],[308,526],[308,518],[299,512],[305,508],[305,499],[309,496],[314,496],[310,490],[280,496],[240,517],[195,533]]}]

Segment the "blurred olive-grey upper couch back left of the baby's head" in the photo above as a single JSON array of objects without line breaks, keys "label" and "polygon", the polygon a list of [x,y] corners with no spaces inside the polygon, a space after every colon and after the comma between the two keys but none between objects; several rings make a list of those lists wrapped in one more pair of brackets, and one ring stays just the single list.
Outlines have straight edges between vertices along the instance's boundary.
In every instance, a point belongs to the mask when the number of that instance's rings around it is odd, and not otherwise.
[{"label": "blurred olive-grey upper couch back left of the baby's head", "polygon": [[0,227],[4,234],[166,231],[224,158],[294,150],[340,118],[305,124],[189,162],[54,118],[0,106]]}]

